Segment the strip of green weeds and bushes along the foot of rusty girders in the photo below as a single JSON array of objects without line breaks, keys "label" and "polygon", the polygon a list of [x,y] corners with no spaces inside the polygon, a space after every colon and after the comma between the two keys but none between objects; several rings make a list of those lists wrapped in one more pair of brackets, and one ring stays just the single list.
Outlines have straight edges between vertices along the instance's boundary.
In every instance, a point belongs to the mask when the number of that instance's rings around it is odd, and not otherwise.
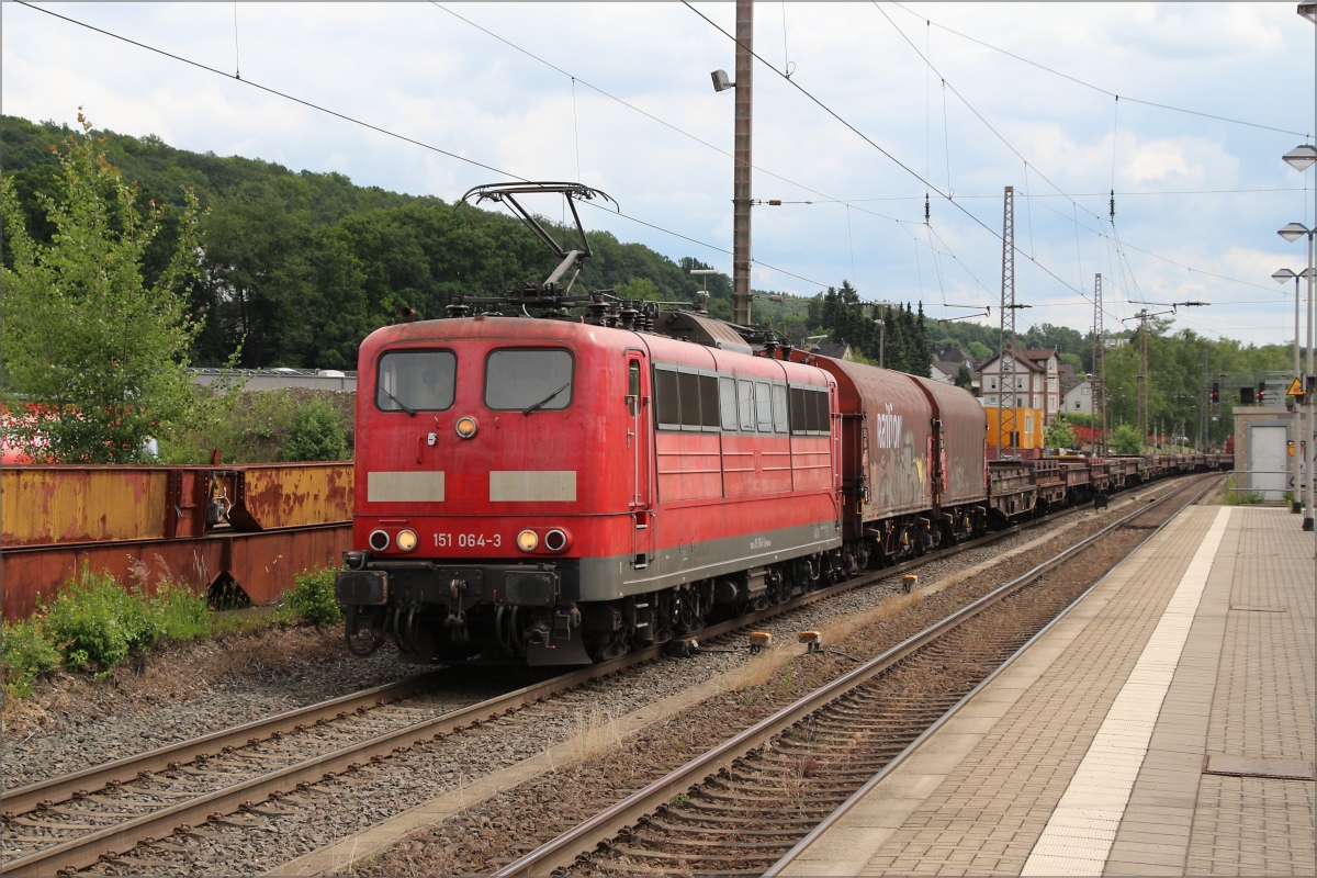
[{"label": "strip of green weeds and bushes along the foot of rusty girders", "polygon": [[148,654],[157,645],[245,634],[281,624],[333,624],[341,616],[333,579],[333,567],[304,570],[282,607],[238,615],[213,611],[187,586],[166,581],[149,594],[141,584],[125,586],[105,571],[84,566],[49,606],[38,600],[30,617],[0,625],[5,698],[28,698],[42,674],[59,669],[105,678],[129,656]]}]

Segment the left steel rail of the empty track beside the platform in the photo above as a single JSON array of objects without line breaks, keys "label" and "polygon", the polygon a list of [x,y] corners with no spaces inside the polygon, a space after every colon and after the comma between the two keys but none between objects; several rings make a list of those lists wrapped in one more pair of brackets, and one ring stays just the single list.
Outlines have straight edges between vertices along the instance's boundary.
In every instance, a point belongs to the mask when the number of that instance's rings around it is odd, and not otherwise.
[{"label": "left steel rail of the empty track beside the platform", "polygon": [[[819,687],[814,692],[798,699],[777,713],[760,720],[751,728],[739,732],[723,744],[719,744],[706,752],[703,756],[691,760],[686,765],[664,775],[643,790],[627,796],[622,802],[605,808],[576,828],[561,833],[552,841],[508,864],[499,871],[494,873],[494,878],[511,878],[512,875],[544,875],[554,869],[570,866],[577,861],[578,856],[607,842],[610,839],[616,836],[623,827],[633,825],[636,820],[652,812],[657,806],[670,800],[673,795],[687,791],[694,785],[702,782],[710,775],[718,774],[720,770],[730,770],[735,760],[763,748],[773,737],[781,735],[784,731],[810,716],[819,708],[836,700],[872,677],[876,677],[884,670],[892,667],[902,658],[906,658],[911,653],[938,640],[944,633],[979,615],[981,611],[996,604],[1002,598],[1029,586],[1039,577],[1072,558],[1079,552],[1089,548],[1115,528],[1119,528],[1139,516],[1147,515],[1148,511],[1155,509],[1172,498],[1179,496],[1189,487],[1192,486],[1185,486],[1154,500],[1144,507],[1134,509],[1129,515],[1113,521],[1108,527],[1090,534],[1089,537],[1085,537],[1073,546],[1069,546],[1052,558],[1036,565],[1023,575],[998,586],[982,598],[979,598],[973,603],[967,604],[965,607],[961,607],[956,612],[951,613],[942,621],[938,621],[925,631],[907,637],[905,641],[897,644],[876,658],[869,659],[855,670]],[[1204,491],[1205,490],[1206,488],[1204,488]],[[1201,494],[1198,496],[1201,496]],[[1143,541],[1141,541],[1139,545],[1142,545],[1142,542]]]}]

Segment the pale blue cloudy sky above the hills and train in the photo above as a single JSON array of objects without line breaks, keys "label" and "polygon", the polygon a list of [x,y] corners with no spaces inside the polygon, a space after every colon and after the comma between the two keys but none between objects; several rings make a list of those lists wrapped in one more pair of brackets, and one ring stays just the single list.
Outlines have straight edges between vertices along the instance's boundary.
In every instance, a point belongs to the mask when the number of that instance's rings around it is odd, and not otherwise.
[{"label": "pale blue cloudy sky above the hills and train", "polygon": [[[40,9],[219,72],[5,1],[7,115],[72,125],[82,107],[97,128],[445,201],[581,180],[624,215],[586,209],[590,228],[731,271],[732,92],[710,80],[735,71],[718,29],[734,30],[731,3]],[[1088,332],[1101,274],[1108,330],[1198,300],[1167,315],[1176,330],[1292,342],[1293,282],[1271,274],[1308,254],[1276,230],[1317,211],[1317,170],[1280,161],[1317,126],[1317,28],[1293,1],[757,3],[755,17],[755,288],[847,279],[867,300],[997,325],[1010,186],[1019,329]]]}]

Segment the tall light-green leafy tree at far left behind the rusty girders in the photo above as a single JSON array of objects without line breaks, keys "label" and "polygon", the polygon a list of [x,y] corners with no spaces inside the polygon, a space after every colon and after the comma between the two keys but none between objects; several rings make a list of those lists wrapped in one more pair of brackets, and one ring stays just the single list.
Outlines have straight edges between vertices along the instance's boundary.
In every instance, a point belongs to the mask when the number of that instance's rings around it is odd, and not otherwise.
[{"label": "tall light-green leafy tree at far left behind the rusty girders", "polygon": [[183,188],[173,251],[148,284],[142,263],[166,207],[151,200],[140,211],[136,187],[105,161],[80,112],[78,120],[83,133],[58,153],[57,196],[38,195],[54,229],[49,244],[32,237],[12,182],[0,180],[0,396],[17,415],[11,441],[33,459],[122,463],[141,459],[149,436],[178,429],[191,411],[187,363],[199,324],[184,295],[198,270],[198,203]]}]

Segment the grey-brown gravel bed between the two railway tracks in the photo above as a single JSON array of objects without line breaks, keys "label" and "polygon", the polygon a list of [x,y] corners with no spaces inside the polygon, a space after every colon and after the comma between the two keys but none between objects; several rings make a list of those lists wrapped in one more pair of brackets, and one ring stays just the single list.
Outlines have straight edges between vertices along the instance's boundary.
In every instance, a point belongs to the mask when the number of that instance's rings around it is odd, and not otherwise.
[{"label": "grey-brown gravel bed between the two railway tracks", "polygon": [[[1148,491],[1141,491],[1135,500],[1143,502]],[[1077,541],[1087,533],[1105,527],[1115,512],[1114,505],[1109,513],[1081,512],[1077,519],[1080,525],[1073,533],[1067,533],[1064,540]],[[1075,519],[1067,519],[1073,521]],[[1008,537],[992,546],[971,549],[959,555],[936,559],[919,570],[923,583],[932,583],[943,577],[956,574],[976,563],[998,558],[1010,549],[1026,542],[1047,536],[1065,521],[1054,521],[1040,528],[1035,528],[1019,534]],[[915,604],[914,612],[905,612],[897,617],[885,620],[872,631],[877,638],[874,648],[881,644],[898,642],[900,638],[918,631],[940,617],[950,607],[963,604],[972,599],[969,595],[982,594],[994,587],[1010,575],[1023,573],[1043,557],[1050,557],[1055,552],[1051,546],[1039,546],[1018,557],[1010,558],[994,566],[988,574],[975,577],[964,583],[954,584],[944,591],[930,595],[922,604]],[[1036,557],[1035,557],[1036,555]],[[820,625],[828,619],[863,612],[877,607],[890,598],[900,588],[900,578],[889,578],[873,586],[853,590],[836,598],[811,604],[806,608],[786,613],[785,616],[769,620],[757,628],[769,631],[778,641],[793,641],[795,633],[807,628]],[[728,645],[743,642],[741,636],[728,636],[719,644]],[[259,873],[287,862],[303,853],[333,844],[356,832],[375,825],[411,807],[428,802],[446,792],[457,791],[469,785],[474,778],[486,777],[504,767],[510,767],[529,757],[539,756],[556,744],[560,744],[576,735],[622,717],[640,707],[653,704],[670,695],[677,695],[693,686],[698,686],[719,674],[734,670],[749,661],[745,652],[736,653],[701,653],[691,658],[673,659],[665,658],[651,662],[626,673],[614,675],[605,681],[597,681],[576,690],[566,696],[558,696],[544,704],[532,706],[516,713],[482,724],[478,728],[446,736],[421,748],[414,748],[411,753],[396,756],[381,765],[367,766],[353,775],[342,775],[332,782],[316,785],[304,791],[298,791],[283,798],[278,804],[266,803],[258,807],[257,812],[236,815],[232,819],[195,829],[188,837],[176,842],[155,845],[150,850],[133,852],[117,862],[97,865],[94,871],[104,874],[129,873],[182,873],[198,875],[220,875],[233,873]],[[822,673],[835,673],[839,667],[848,666],[848,662],[835,657],[818,661],[814,667]],[[831,669],[831,670],[826,670]],[[678,721],[678,735],[694,735],[703,738],[707,735],[722,733],[728,723],[736,728],[755,721],[766,715],[769,708],[785,698],[798,695],[802,686],[813,679],[814,674],[798,674],[793,686],[784,687],[772,698],[761,699],[755,704],[745,704],[740,694],[726,694],[706,702],[705,704],[689,708]],[[785,703],[785,702],[784,702]],[[776,710],[776,708],[774,708]],[[666,729],[666,731],[664,731]],[[586,777],[582,781],[582,795],[589,790],[586,800],[593,806],[601,798],[620,798],[630,792],[652,774],[648,769],[657,771],[660,767],[668,770],[670,760],[658,758],[658,753],[666,746],[672,748],[673,728],[669,723],[657,723],[651,729],[628,740],[627,749],[639,748],[645,753],[645,770],[635,767],[635,761],[626,761],[627,765],[616,767],[616,771],[601,778],[598,774],[593,779]],[[694,742],[691,742],[694,744]],[[655,758],[649,758],[649,748]],[[680,749],[684,758],[689,758],[695,750],[689,746]],[[673,765],[680,763],[678,760]],[[577,769],[570,769],[573,771]],[[620,773],[620,774],[618,774]],[[477,806],[475,813],[483,815],[487,825],[466,825],[461,837],[449,837],[448,841],[456,846],[470,848],[473,856],[483,850],[478,841],[486,835],[490,844],[500,845],[503,852],[510,845],[516,844],[500,829],[494,827],[494,821],[506,819],[510,807],[519,808],[525,803],[516,796],[531,795],[549,796],[547,800],[560,800],[556,788],[566,783],[562,771],[552,773],[529,785],[523,785],[515,791],[514,800],[507,800],[507,795],[497,796],[486,806]],[[655,774],[657,777],[657,774]],[[602,785],[602,786],[601,786]],[[543,787],[543,790],[541,790]],[[531,790],[527,792],[525,790]],[[541,790],[535,792],[535,790]],[[502,804],[499,802],[502,800]],[[502,808],[502,810],[500,810]],[[502,815],[502,817],[499,816]],[[452,823],[452,821],[449,821]],[[461,820],[458,823],[462,823]],[[448,824],[444,824],[445,827]],[[544,824],[541,820],[541,831]],[[551,833],[552,835],[552,833]],[[543,840],[543,839],[541,839]],[[531,841],[527,841],[531,844]],[[471,860],[458,860],[456,862],[474,862]],[[428,861],[431,867],[440,871],[452,871],[443,864]],[[379,871],[383,870],[383,871]],[[390,871],[392,870],[392,871]],[[407,873],[404,860],[385,860],[379,865],[370,866],[373,874],[399,874]],[[424,870],[423,870],[424,871]],[[416,874],[415,871],[411,874]],[[433,873],[432,873],[433,874]]]}]

